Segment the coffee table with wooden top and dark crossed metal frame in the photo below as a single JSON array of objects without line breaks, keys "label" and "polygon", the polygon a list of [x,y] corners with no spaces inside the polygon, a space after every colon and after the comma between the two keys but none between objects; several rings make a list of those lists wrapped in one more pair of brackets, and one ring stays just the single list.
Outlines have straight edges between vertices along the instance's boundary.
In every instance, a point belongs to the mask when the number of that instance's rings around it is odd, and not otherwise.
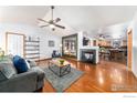
[{"label": "coffee table with wooden top and dark crossed metal frame", "polygon": [[71,64],[64,60],[64,63],[60,63],[61,59],[53,59],[49,61],[49,69],[57,76],[63,76],[71,72]]}]

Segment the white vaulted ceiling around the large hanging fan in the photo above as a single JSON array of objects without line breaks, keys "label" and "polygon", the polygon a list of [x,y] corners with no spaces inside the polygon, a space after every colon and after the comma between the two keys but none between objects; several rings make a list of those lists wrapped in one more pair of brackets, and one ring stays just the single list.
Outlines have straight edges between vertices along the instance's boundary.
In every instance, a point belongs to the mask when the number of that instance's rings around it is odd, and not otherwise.
[{"label": "white vaulted ceiling around the large hanging fan", "polygon": [[[137,7],[131,6],[56,6],[54,18],[61,18],[59,24],[65,25],[66,29],[56,29],[54,33],[71,34],[77,31],[92,33],[97,29],[130,21],[136,11]],[[50,14],[48,6],[0,7],[0,22],[6,23],[38,25],[38,18],[49,20]]]}]

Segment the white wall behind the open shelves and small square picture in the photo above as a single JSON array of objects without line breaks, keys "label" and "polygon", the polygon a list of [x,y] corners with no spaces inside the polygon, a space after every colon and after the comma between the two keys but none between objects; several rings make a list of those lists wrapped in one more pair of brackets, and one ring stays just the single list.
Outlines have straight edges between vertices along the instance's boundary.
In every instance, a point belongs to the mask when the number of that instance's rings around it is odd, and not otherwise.
[{"label": "white wall behind the open shelves and small square picture", "polygon": [[[53,31],[28,24],[0,23],[0,48],[6,50],[6,32],[22,33],[31,37],[40,37],[41,59],[51,58],[53,50],[60,50],[61,37],[53,34]],[[50,48],[49,40],[55,41],[55,47]]]}]

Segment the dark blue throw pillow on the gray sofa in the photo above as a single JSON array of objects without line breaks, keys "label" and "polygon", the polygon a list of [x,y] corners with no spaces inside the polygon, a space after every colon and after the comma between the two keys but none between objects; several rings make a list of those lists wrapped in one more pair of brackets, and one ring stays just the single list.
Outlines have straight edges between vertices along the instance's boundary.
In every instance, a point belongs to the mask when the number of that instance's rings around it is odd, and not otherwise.
[{"label": "dark blue throw pillow on the gray sofa", "polygon": [[19,55],[13,56],[13,64],[18,71],[18,73],[23,73],[23,72],[28,71],[28,65],[25,63],[25,60]]}]

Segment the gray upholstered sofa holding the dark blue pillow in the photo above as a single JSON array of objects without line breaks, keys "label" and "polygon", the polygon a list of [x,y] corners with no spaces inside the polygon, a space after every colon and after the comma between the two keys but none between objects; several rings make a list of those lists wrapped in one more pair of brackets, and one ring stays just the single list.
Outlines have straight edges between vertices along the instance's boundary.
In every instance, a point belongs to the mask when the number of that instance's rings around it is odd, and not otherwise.
[{"label": "gray upholstered sofa holding the dark blue pillow", "polygon": [[0,92],[33,92],[42,89],[43,85],[44,72],[34,62],[30,62],[28,72],[19,74],[12,60],[8,59],[0,62]]}]

